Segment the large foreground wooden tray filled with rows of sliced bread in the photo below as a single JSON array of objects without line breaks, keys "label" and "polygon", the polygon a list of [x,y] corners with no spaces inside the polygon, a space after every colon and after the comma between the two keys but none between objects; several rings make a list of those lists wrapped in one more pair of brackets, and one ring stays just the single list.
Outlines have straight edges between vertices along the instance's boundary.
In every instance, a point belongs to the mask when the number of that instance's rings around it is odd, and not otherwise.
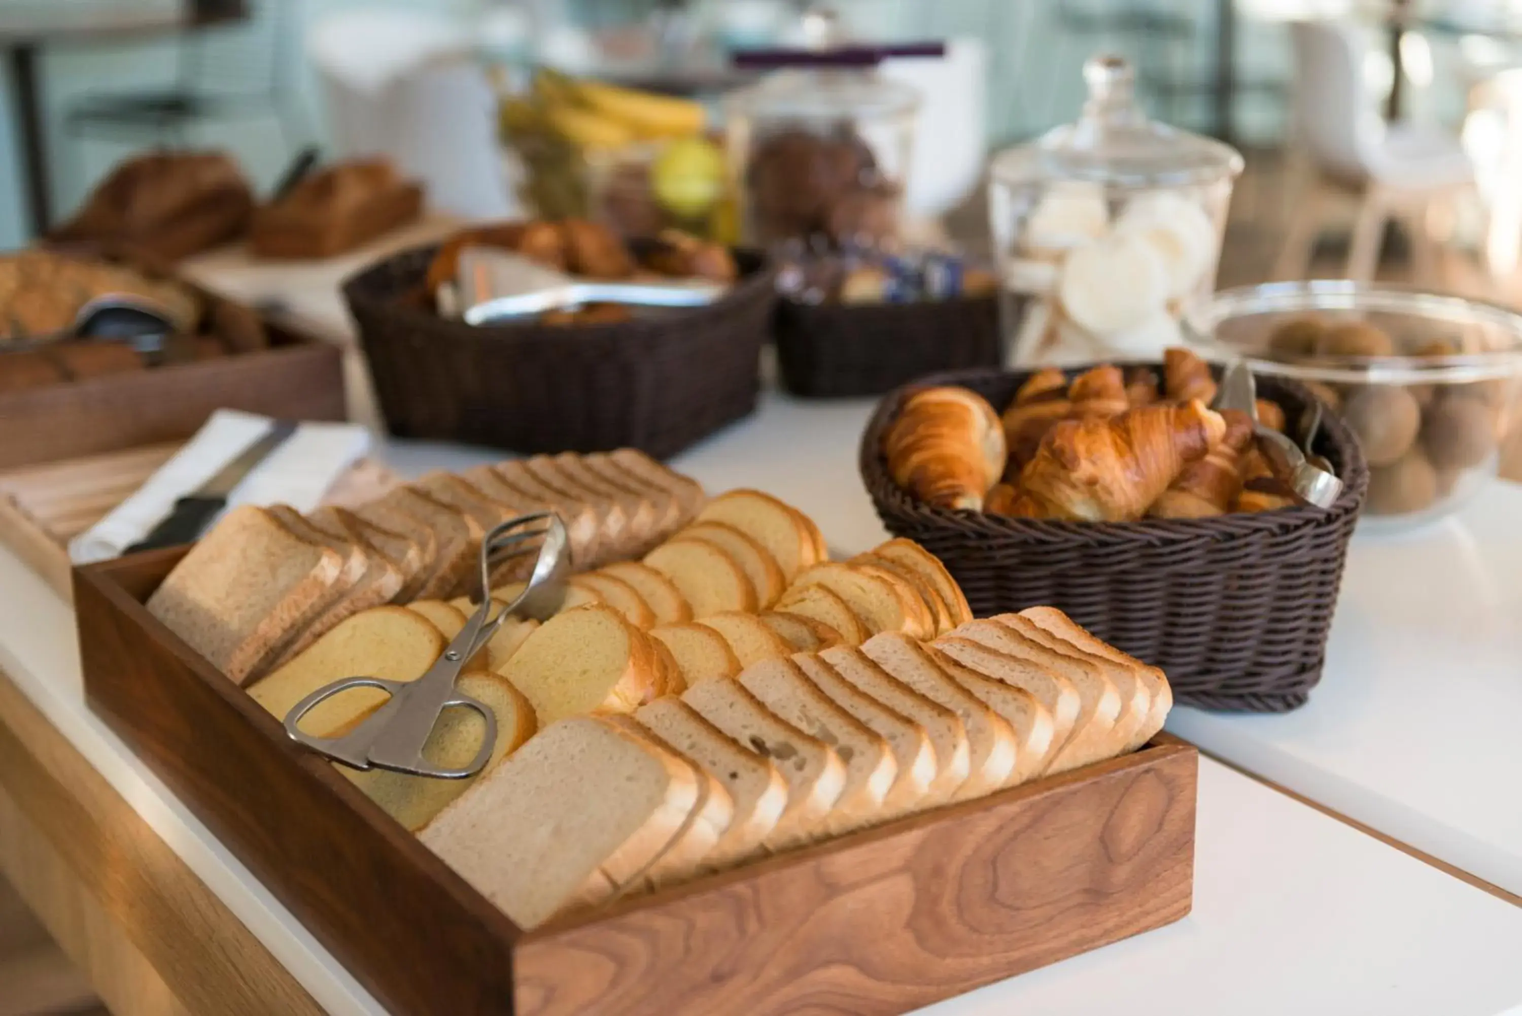
[{"label": "large foreground wooden tray filled with rows of sliced bread", "polygon": [[[472,588],[475,545],[536,509],[577,573],[460,678],[484,771],[286,736],[312,690],[416,679],[511,602],[513,570]],[[91,708],[390,1011],[900,1013],[1190,909],[1161,672],[1058,611],[973,620],[910,541],[826,561],[801,512],[638,452],[239,509],[75,580]],[[425,754],[463,766],[484,730],[446,711]]]}]

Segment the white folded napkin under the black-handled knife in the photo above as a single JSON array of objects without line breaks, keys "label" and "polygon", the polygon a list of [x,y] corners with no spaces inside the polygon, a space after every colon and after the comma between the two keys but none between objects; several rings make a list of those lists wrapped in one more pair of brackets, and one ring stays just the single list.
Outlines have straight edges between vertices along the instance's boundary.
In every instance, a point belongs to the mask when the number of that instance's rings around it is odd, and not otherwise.
[{"label": "white folded napkin under the black-handled knife", "polygon": [[[216,475],[245,448],[265,436],[268,416],[218,410],[175,457],[158,468],[137,494],[68,542],[75,564],[119,556],[148,536],[175,501]],[[370,449],[370,431],[358,423],[301,423],[227,498],[237,504],[289,504],[315,509],[333,481]]]}]

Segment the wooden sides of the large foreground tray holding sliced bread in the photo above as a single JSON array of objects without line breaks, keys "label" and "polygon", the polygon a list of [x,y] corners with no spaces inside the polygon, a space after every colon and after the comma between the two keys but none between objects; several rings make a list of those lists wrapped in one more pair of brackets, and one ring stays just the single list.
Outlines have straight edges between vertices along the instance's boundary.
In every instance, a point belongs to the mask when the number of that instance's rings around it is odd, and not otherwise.
[{"label": "wooden sides of the large foreground tray holding sliced bread", "polygon": [[75,571],[90,707],[393,1013],[901,1013],[1189,914],[1164,737],[525,934],[146,611],[181,554]]}]

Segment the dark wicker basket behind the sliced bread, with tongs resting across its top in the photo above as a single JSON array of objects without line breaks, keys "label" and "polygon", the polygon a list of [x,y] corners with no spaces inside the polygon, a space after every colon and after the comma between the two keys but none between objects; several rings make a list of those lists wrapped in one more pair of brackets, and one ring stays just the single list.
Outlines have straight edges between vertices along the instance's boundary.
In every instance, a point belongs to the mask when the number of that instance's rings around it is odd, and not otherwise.
[{"label": "dark wicker basket behind the sliced bread, with tongs resting across its top", "polygon": [[618,324],[475,327],[425,306],[435,250],[344,283],[393,434],[667,458],[755,410],[776,302],[759,256],[740,251],[740,282],[709,306]]}]

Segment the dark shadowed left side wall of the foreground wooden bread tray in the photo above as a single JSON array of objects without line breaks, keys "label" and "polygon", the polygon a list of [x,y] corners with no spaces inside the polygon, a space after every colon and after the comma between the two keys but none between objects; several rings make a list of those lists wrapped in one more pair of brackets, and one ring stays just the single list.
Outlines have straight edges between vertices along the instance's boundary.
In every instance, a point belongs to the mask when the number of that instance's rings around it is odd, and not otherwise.
[{"label": "dark shadowed left side wall of the foreground wooden bread tray", "polygon": [[513,923],[140,603],[183,553],[75,571],[90,707],[388,1010],[510,1013]]}]

